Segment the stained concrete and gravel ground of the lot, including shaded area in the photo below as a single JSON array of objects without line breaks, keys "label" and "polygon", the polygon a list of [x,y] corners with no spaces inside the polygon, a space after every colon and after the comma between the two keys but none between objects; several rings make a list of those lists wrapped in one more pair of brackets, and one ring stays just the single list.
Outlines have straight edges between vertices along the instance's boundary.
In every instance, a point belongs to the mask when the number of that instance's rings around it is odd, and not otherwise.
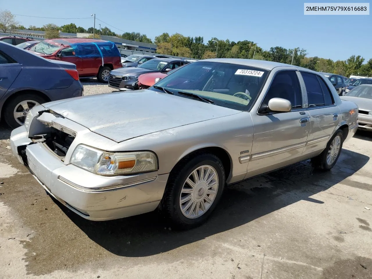
[{"label": "stained concrete and gravel ground of the lot, including shaded area", "polygon": [[305,161],[227,187],[209,221],[183,232],[156,212],[80,218],[17,161],[9,135],[0,127],[0,278],[372,278],[371,133],[329,172]]}]

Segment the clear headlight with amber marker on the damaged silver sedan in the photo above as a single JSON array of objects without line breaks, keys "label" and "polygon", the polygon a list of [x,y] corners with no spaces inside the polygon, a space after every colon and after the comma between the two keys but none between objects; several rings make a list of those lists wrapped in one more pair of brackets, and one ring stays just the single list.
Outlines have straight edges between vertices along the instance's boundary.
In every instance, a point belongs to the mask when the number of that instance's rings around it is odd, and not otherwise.
[{"label": "clear headlight with amber marker on the damaged silver sedan", "polygon": [[103,176],[125,175],[155,171],[157,157],[151,151],[105,152],[86,145],[78,145],[70,163]]}]

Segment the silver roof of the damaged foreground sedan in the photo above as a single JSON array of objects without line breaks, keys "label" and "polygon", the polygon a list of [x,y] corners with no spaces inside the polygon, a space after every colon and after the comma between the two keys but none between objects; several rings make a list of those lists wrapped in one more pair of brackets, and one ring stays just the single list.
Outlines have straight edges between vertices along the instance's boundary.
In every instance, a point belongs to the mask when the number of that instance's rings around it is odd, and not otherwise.
[{"label": "silver roof of the damaged foreground sedan", "polygon": [[[272,70],[275,67],[283,67],[283,66],[305,69],[305,68],[302,68],[302,67],[299,67],[299,66],[289,65],[289,64],[279,63],[279,62],[272,62],[272,61],[266,61],[266,60],[255,60],[255,59],[237,59],[237,58],[204,59],[204,60],[195,61],[193,63],[202,62],[202,61],[244,65],[244,66],[262,68],[262,69],[265,69],[265,70]],[[305,69],[305,70],[308,70],[308,69]]]}]

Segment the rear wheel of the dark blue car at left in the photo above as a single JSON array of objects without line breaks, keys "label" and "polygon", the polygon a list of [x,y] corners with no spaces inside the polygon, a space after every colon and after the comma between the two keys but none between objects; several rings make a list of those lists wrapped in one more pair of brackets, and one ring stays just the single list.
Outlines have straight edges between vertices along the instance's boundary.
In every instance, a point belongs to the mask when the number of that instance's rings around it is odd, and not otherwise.
[{"label": "rear wheel of the dark blue car at left", "polygon": [[[43,97],[35,93],[27,93],[12,97],[4,108],[4,119],[10,128],[15,129],[24,124],[26,115],[34,106],[47,102]],[[23,104],[23,105],[22,105]],[[26,107],[27,106],[27,107]],[[26,114],[25,114],[26,113]],[[20,117],[17,117],[17,114]],[[21,114],[25,114],[21,116]],[[18,121],[17,121],[18,120]]]}]

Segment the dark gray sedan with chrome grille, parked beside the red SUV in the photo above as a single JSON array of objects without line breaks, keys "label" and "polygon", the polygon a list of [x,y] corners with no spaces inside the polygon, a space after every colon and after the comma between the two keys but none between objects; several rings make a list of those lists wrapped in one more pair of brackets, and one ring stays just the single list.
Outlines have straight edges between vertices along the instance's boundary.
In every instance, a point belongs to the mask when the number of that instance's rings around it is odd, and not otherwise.
[{"label": "dark gray sedan with chrome grille, parked beside the red SUV", "polygon": [[119,68],[110,72],[109,87],[119,90],[134,90],[141,74],[166,73],[190,62],[173,58],[154,58],[138,67]]}]

